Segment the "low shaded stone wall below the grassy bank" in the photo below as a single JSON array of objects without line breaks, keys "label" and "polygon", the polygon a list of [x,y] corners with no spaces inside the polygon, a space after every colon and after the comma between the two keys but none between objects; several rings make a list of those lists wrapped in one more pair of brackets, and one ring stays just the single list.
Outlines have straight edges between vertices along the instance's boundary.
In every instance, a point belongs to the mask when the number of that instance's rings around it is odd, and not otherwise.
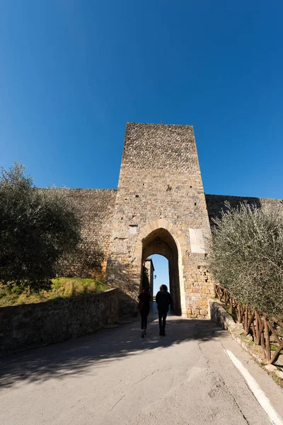
[{"label": "low shaded stone wall below the grassy bank", "polygon": [[118,290],[0,308],[0,356],[89,334],[118,318]]}]

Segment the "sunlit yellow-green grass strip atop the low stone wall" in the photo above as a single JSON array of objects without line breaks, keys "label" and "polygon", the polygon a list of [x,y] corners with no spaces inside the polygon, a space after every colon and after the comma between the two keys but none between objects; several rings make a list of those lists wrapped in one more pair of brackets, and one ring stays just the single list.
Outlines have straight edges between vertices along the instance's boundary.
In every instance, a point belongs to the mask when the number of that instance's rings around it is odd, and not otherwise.
[{"label": "sunlit yellow-green grass strip atop the low stone wall", "polygon": [[51,289],[49,291],[41,290],[39,293],[30,293],[28,290],[18,287],[18,285],[13,285],[10,288],[0,285],[0,307],[45,302],[56,298],[77,297],[104,292],[108,289],[110,288],[100,280],[82,278],[52,279]]}]

